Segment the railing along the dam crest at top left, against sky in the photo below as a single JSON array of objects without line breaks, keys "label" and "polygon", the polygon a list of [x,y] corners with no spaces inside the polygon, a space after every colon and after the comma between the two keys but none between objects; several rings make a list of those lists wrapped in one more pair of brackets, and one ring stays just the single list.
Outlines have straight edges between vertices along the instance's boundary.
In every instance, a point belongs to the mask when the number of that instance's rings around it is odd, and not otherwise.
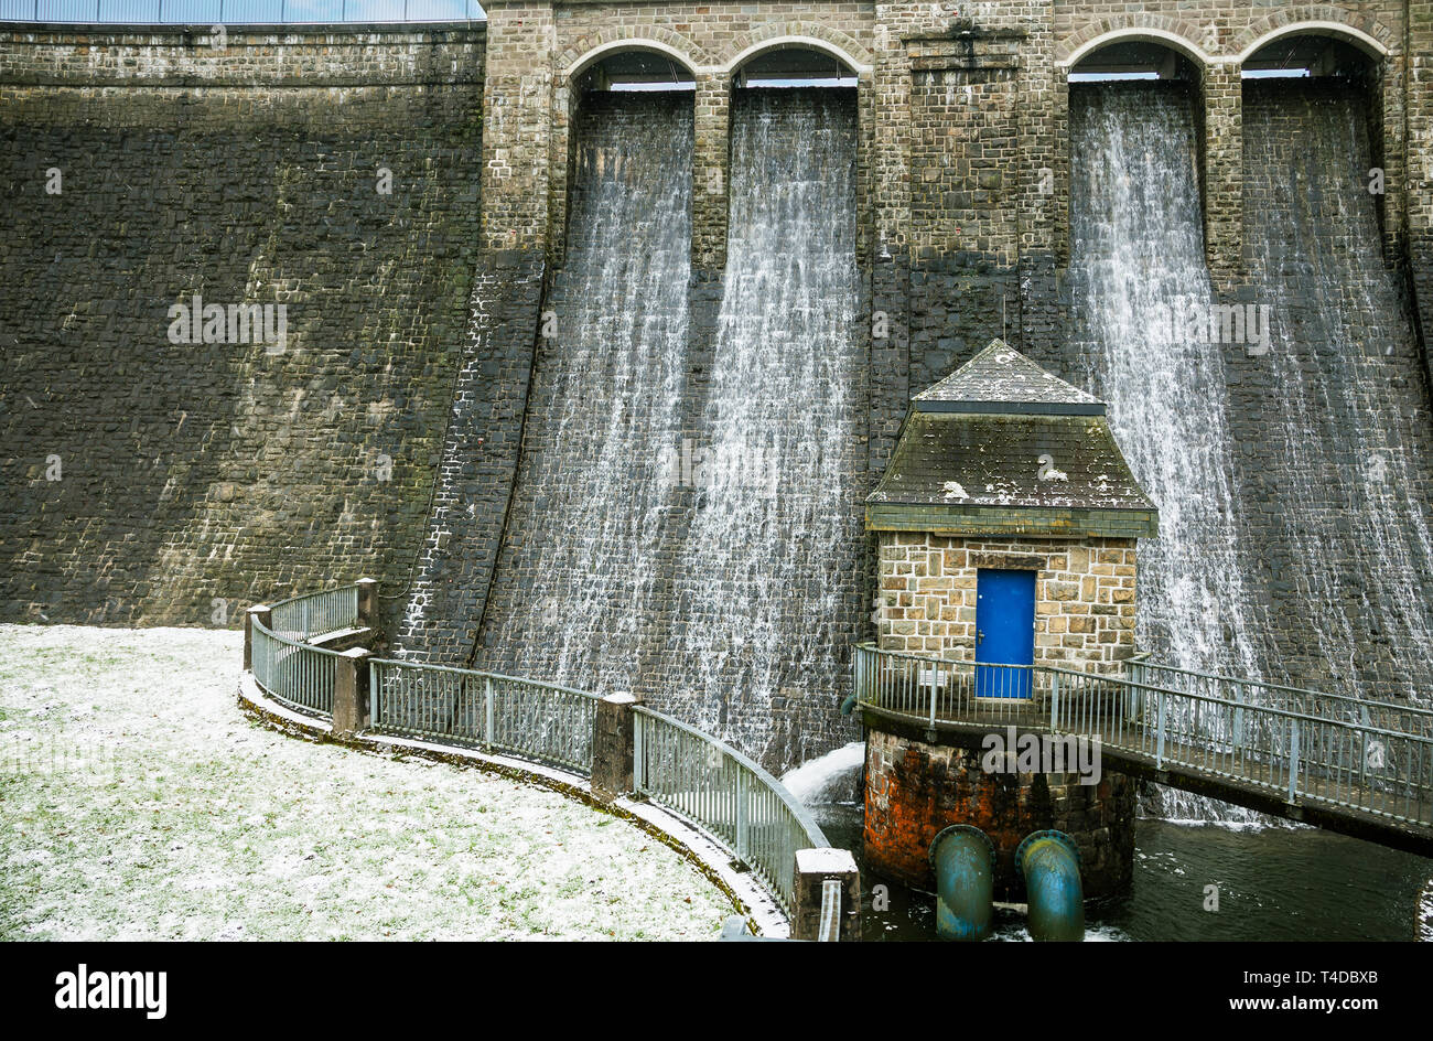
[{"label": "railing along the dam crest at top left, against sky", "polygon": [[0,22],[282,26],[481,22],[480,0],[0,0]]}]

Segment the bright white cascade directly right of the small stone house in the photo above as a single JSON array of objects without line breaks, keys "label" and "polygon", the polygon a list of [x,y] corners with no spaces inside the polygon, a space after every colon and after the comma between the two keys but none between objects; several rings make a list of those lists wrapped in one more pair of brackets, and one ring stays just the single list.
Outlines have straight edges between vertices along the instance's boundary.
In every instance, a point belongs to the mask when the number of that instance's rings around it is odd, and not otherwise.
[{"label": "bright white cascade directly right of the small stone house", "polygon": [[[1139,644],[1181,668],[1258,677],[1222,347],[1189,334],[1215,303],[1191,99],[1176,85],[1079,86],[1070,142],[1072,356],[1159,506],[1159,538],[1141,545]],[[1168,816],[1247,816],[1162,794]]]}]

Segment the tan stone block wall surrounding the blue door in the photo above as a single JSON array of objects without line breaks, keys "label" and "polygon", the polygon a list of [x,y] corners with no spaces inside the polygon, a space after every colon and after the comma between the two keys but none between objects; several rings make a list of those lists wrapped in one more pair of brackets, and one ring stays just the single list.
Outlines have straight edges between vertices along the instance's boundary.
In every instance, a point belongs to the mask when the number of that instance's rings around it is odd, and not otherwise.
[{"label": "tan stone block wall surrounding the blue door", "polygon": [[881,650],[974,661],[982,568],[1035,571],[1035,661],[1116,668],[1135,650],[1134,539],[987,539],[881,532]]}]

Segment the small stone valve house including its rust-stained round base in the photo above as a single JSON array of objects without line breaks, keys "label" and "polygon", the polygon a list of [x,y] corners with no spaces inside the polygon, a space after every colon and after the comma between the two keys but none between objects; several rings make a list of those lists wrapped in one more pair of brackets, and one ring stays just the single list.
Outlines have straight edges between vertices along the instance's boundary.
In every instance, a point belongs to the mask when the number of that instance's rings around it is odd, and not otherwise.
[{"label": "small stone valve house including its rust-stained round base", "polygon": [[[913,399],[866,523],[880,542],[881,650],[1080,671],[1115,671],[1134,652],[1135,542],[1155,535],[1158,512],[1105,404],[999,340]],[[1029,718],[992,717],[1000,727],[1043,728],[1029,687],[983,693],[980,672],[977,704],[1026,700]],[[931,889],[931,840],[970,824],[995,846],[996,899],[1025,898],[1015,855],[1045,829],[1075,840],[1086,896],[1129,885],[1129,777],[986,771],[970,727],[937,731],[871,710],[863,721],[864,850],[880,875]]]}]

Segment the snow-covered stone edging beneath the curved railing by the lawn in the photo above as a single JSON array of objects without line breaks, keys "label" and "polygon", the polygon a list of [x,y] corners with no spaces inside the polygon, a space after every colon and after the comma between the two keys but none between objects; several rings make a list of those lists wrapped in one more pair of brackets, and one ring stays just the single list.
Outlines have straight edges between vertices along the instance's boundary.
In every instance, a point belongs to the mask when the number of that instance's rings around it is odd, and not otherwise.
[{"label": "snow-covered stone edging beneath the curved railing by the lawn", "polygon": [[612,813],[636,824],[686,857],[732,900],[757,936],[785,939],[791,933],[785,911],[757,880],[755,873],[732,868],[731,853],[715,839],[653,803],[629,797],[615,799],[610,803],[600,802],[592,794],[592,783],[580,774],[476,748],[391,734],[361,733],[348,738],[335,737],[328,720],[305,716],[271,698],[259,688],[252,672],[239,677],[239,708],[274,730],[310,741],[331,741],[377,754],[421,756],[451,766],[476,767],[510,780],[539,784],[588,803],[593,810]]}]

